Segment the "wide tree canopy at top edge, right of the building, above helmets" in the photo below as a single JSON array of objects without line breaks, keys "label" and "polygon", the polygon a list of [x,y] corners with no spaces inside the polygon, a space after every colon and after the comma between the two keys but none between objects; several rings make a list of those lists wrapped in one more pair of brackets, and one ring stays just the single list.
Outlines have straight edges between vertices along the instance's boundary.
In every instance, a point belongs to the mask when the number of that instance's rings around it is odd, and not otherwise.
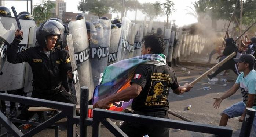
[{"label": "wide tree canopy at top edge, right of the building, above helmets", "polygon": [[93,13],[99,17],[110,11],[109,0],[81,0],[77,9],[83,13]]}]

